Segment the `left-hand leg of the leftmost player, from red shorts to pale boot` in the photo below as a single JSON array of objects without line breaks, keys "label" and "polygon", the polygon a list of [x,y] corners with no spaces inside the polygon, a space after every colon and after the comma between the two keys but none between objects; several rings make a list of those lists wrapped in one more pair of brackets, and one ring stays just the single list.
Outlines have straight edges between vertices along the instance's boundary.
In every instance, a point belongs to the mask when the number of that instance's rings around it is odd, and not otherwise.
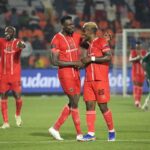
[{"label": "left-hand leg of the leftmost player, from red shorts to pale boot", "polygon": [[0,128],[2,129],[10,127],[8,122],[8,91],[9,84],[6,82],[1,82],[1,113],[3,118],[3,125]]}]

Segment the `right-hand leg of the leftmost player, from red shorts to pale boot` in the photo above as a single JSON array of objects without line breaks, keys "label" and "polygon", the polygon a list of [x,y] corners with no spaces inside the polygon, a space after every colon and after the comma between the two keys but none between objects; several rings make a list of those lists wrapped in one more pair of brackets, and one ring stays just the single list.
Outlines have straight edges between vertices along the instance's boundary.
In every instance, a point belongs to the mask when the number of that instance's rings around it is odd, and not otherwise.
[{"label": "right-hand leg of the leftmost player, from red shorts to pale boot", "polygon": [[16,102],[16,112],[15,112],[16,125],[20,127],[22,125],[21,110],[23,104],[23,100],[21,97],[21,91],[22,91],[21,82],[18,81],[12,83],[11,89]]}]

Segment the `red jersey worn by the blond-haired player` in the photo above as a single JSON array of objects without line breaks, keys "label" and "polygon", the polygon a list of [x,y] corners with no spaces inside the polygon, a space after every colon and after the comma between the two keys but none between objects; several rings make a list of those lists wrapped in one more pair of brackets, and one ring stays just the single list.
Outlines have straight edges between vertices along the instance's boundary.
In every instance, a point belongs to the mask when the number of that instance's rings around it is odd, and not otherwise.
[{"label": "red jersey worn by the blond-haired player", "polygon": [[[108,42],[104,38],[96,38],[94,39],[89,48],[88,55],[100,57],[103,56],[105,52],[110,51],[110,47]],[[86,67],[86,81],[108,81],[108,73],[109,73],[109,63],[91,63]]]}]

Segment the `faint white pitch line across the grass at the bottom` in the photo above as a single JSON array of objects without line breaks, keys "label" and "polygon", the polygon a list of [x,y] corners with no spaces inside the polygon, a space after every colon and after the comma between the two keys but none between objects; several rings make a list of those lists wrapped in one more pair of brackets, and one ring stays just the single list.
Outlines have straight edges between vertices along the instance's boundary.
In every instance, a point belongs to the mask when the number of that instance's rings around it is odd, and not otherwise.
[{"label": "faint white pitch line across the grass at the bottom", "polygon": [[[89,142],[108,142],[107,140],[96,140],[96,141],[89,141]],[[48,143],[72,143],[72,142],[78,142],[76,140],[64,140],[64,141],[57,141],[57,140],[49,140],[49,141],[0,141],[0,144],[48,144]],[[115,142],[149,142],[150,143],[150,139],[131,139],[131,140],[116,140],[113,141],[113,143]],[[80,142],[80,143],[85,143],[85,142]],[[112,143],[112,142],[110,142]]]}]

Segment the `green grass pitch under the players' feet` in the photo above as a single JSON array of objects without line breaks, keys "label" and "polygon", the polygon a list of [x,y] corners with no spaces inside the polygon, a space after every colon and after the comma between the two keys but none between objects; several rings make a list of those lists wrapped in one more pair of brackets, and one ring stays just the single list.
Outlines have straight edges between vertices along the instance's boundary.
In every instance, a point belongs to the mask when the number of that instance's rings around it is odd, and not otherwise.
[{"label": "green grass pitch under the players' feet", "polygon": [[[143,96],[143,99],[145,97]],[[134,107],[132,97],[112,96],[109,107],[113,112],[116,141],[107,142],[107,128],[97,108],[96,141],[77,142],[72,118],[61,127],[64,141],[56,141],[48,128],[57,119],[66,96],[24,96],[23,126],[15,125],[15,101],[9,98],[9,129],[0,129],[0,150],[148,150],[150,149],[150,111]],[[87,132],[85,105],[80,98],[81,127]],[[0,115],[0,124],[2,117]]]}]

